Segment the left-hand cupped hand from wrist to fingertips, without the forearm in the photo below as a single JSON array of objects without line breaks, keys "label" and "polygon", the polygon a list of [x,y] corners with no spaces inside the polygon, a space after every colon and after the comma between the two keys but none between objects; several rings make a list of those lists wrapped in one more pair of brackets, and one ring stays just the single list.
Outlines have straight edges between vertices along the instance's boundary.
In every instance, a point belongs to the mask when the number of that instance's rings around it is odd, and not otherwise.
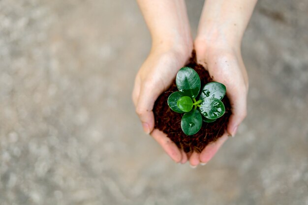
[{"label": "left-hand cupped hand from wrist to fingertips, without the forearm", "polygon": [[[177,47],[179,45],[177,44]],[[152,111],[157,97],[170,87],[177,72],[190,57],[192,42],[190,45],[180,47],[181,49],[155,46],[152,49],[137,73],[132,99],[144,131],[151,134],[175,162],[185,163],[186,153],[180,150],[162,131],[154,130]]]}]

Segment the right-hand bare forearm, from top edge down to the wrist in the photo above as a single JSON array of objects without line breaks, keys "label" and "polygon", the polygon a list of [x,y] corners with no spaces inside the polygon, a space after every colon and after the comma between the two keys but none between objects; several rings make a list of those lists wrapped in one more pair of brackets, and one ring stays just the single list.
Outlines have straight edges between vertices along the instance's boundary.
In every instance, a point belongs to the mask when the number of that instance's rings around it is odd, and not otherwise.
[{"label": "right-hand bare forearm, from top edge down to the wrist", "polygon": [[197,40],[240,46],[257,0],[206,0]]}]

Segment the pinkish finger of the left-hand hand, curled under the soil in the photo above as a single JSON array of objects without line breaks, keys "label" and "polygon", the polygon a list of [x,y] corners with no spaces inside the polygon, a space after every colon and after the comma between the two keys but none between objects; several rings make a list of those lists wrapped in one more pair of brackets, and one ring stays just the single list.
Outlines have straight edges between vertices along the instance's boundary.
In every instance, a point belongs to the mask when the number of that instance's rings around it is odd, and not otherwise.
[{"label": "pinkish finger of the left-hand hand, curled under the soil", "polygon": [[162,146],[165,152],[173,159],[175,162],[181,162],[182,154],[177,145],[167,137],[165,133],[158,129],[154,129],[151,133],[156,142]]}]

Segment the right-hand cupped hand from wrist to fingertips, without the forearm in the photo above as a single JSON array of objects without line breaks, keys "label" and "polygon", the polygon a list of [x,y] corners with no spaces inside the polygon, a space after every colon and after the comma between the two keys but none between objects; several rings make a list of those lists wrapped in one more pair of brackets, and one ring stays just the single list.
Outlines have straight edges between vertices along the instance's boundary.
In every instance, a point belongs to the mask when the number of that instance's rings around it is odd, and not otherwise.
[{"label": "right-hand cupped hand from wrist to fingertips, without the forearm", "polygon": [[198,63],[208,69],[214,81],[226,86],[232,108],[232,115],[224,135],[206,146],[201,153],[191,154],[189,162],[192,166],[197,166],[199,163],[210,161],[219,147],[228,139],[228,135],[236,134],[238,126],[246,117],[248,77],[240,45],[210,37],[197,37],[194,45]]}]

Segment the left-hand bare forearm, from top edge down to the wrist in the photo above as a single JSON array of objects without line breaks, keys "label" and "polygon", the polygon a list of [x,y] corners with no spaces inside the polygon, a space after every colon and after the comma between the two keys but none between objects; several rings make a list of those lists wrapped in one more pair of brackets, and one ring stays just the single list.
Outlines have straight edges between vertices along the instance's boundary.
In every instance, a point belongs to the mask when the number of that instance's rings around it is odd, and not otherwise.
[{"label": "left-hand bare forearm, from top edge down to the wrist", "polygon": [[192,48],[184,0],[137,0],[137,2],[150,30],[154,47],[174,47],[180,50]]}]

